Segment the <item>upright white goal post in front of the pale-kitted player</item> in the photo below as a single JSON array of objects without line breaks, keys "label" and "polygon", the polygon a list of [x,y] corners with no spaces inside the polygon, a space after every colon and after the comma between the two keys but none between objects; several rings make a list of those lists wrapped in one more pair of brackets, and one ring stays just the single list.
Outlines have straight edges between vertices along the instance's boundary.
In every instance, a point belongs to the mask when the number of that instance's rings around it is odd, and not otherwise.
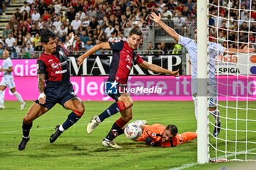
[{"label": "upright white goal post in front of the pale-kitted player", "polygon": [[[197,163],[208,163],[207,1],[197,1]],[[200,55],[199,55],[200,54]]]}]

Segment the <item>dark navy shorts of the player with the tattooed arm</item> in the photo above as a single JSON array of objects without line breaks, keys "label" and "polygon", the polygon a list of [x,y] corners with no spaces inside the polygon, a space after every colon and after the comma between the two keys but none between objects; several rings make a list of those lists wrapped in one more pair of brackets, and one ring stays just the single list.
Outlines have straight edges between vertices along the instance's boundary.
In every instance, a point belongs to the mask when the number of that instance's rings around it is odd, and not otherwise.
[{"label": "dark navy shorts of the player with the tattooed arm", "polygon": [[[72,84],[69,85],[56,85],[50,88],[45,87],[46,101],[45,104],[40,104],[47,109],[51,109],[55,104],[61,104],[64,107],[64,103],[71,98],[77,97],[74,92]],[[39,104],[38,99],[35,101]]]}]

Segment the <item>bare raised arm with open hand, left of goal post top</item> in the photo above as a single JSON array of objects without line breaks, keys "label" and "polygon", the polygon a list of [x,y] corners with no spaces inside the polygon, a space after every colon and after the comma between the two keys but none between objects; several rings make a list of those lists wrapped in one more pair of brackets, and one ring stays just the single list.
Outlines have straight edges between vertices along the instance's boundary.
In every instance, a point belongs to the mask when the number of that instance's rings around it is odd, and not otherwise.
[{"label": "bare raised arm with open hand, left of goal post top", "polygon": [[158,23],[159,26],[161,26],[167,32],[167,34],[173,36],[173,38],[178,41],[179,34],[176,33],[173,28],[170,28],[164,22],[162,22],[161,15],[157,15],[155,12],[151,12],[151,20],[154,20],[155,23]]}]

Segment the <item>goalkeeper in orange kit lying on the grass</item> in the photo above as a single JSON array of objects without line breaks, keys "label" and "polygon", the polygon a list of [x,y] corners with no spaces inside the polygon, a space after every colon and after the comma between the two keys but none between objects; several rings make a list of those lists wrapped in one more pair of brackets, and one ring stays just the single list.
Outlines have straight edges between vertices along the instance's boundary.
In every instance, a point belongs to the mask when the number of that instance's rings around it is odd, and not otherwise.
[{"label": "goalkeeper in orange kit lying on the grass", "polygon": [[153,125],[139,124],[143,132],[135,141],[145,142],[147,145],[153,147],[176,147],[178,144],[189,142],[197,137],[197,134],[191,131],[178,134],[176,125],[165,126],[157,123]]}]

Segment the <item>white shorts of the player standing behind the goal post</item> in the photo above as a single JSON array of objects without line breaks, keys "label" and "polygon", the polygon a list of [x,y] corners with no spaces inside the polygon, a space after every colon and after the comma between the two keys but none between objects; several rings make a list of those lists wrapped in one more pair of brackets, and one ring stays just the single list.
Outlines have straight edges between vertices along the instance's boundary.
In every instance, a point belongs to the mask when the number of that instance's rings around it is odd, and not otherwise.
[{"label": "white shorts of the player standing behind the goal post", "polygon": [[[191,80],[191,93],[193,101],[197,99],[197,80],[192,79]],[[218,98],[217,98],[217,85],[208,85],[208,106],[209,107],[216,107],[218,104]]]}]

